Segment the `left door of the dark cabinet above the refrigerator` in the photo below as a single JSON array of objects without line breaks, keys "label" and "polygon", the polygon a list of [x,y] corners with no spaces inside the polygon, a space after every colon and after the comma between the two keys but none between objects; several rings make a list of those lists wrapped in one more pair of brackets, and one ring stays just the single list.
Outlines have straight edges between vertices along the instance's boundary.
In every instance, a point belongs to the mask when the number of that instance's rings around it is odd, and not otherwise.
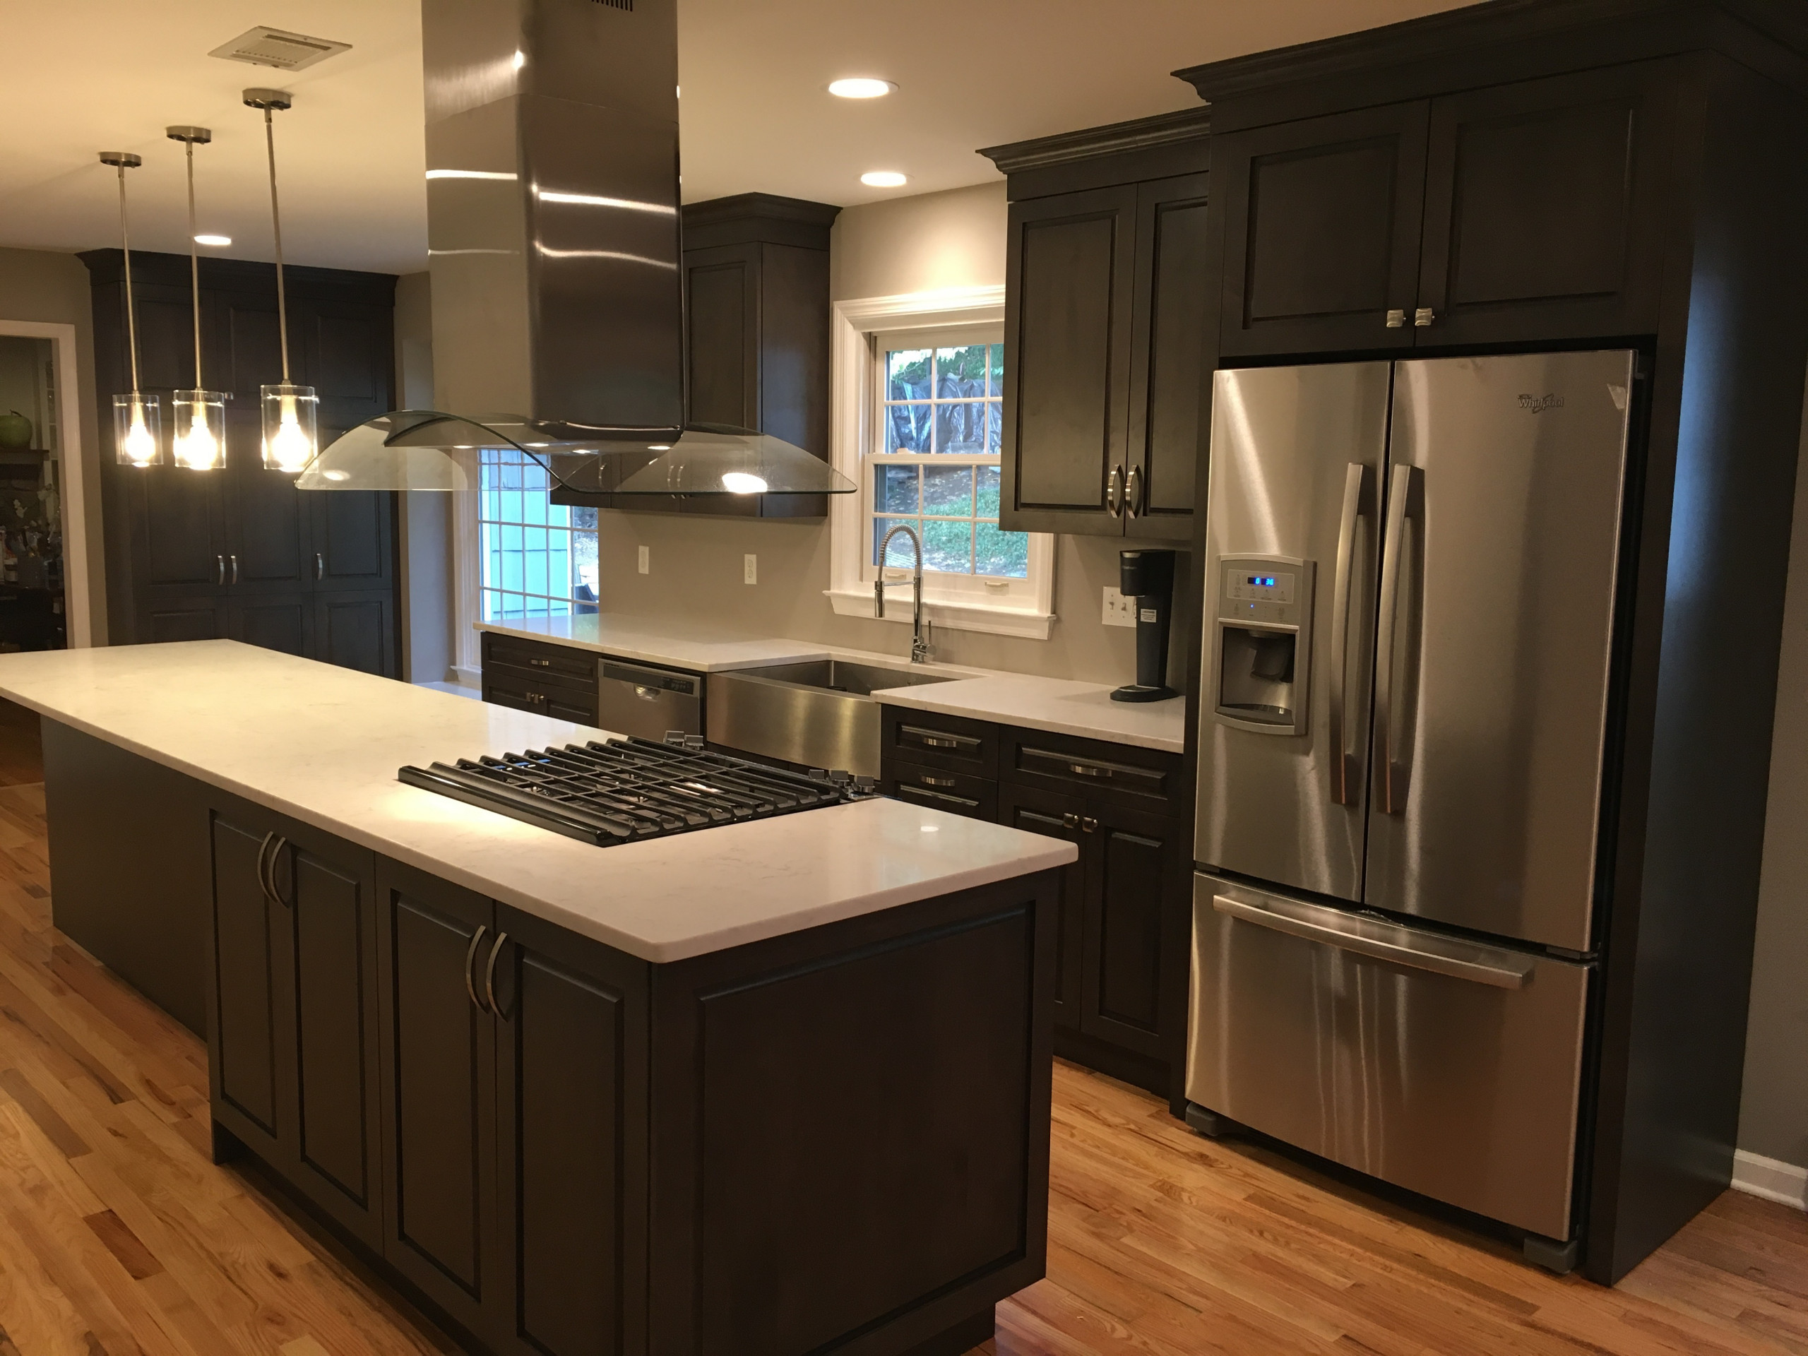
[{"label": "left door of the dark cabinet above the refrigerator", "polygon": [[1211,139],[1220,354],[1410,347],[1427,112],[1396,103]]}]

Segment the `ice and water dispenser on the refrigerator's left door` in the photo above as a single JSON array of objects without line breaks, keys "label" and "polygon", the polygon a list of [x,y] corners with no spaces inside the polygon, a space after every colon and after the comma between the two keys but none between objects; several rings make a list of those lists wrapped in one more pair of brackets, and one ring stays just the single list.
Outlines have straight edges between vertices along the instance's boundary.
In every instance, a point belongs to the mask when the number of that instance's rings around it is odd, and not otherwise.
[{"label": "ice and water dispenser on the refrigerator's left door", "polygon": [[1258,734],[1305,734],[1313,658],[1313,562],[1224,555],[1217,568],[1217,718]]}]

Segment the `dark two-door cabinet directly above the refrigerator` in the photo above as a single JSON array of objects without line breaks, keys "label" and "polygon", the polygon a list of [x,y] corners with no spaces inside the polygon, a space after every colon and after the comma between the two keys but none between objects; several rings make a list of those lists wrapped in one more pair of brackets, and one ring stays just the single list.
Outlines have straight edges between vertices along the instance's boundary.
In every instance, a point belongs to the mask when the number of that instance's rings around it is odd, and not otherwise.
[{"label": "dark two-door cabinet directly above the refrigerator", "polygon": [[1665,61],[1222,132],[1219,351],[1656,329]]}]

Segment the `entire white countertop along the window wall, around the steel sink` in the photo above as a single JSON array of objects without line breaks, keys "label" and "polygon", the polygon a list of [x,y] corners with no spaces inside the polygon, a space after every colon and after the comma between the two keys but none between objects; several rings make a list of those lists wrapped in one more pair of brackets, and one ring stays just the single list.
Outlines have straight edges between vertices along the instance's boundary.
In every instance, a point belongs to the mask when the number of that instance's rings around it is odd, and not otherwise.
[{"label": "entire white countertop along the window wall, around the steel sink", "polygon": [[[591,649],[598,654],[662,664],[691,673],[727,673],[729,669],[758,669],[767,664],[828,658],[908,667],[908,660],[899,654],[873,654],[837,645],[817,645],[808,640],[738,636],[723,633],[720,627],[685,620],[667,622],[618,613],[481,622],[477,629]],[[1083,739],[1128,743],[1172,754],[1186,749],[1186,702],[1182,698],[1139,705],[1112,702],[1110,683],[1081,683],[1031,673],[998,673],[947,664],[924,665],[922,671],[942,673],[955,682],[886,689],[873,696],[886,705],[938,711],[947,716],[989,720],[1031,730],[1076,734]]]}]

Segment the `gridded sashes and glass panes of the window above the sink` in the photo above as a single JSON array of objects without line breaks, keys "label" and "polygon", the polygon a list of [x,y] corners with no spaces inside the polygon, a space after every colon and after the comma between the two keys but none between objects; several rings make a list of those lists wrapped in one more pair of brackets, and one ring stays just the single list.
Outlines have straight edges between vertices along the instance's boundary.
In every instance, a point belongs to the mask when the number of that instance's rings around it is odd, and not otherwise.
[{"label": "gridded sashes and glass panes of the window above the sink", "polygon": [[[899,523],[922,535],[924,570],[1027,579],[1029,537],[998,530],[1003,344],[884,347],[879,438],[868,461],[868,562]],[[909,568],[899,535],[886,566]]]}]

